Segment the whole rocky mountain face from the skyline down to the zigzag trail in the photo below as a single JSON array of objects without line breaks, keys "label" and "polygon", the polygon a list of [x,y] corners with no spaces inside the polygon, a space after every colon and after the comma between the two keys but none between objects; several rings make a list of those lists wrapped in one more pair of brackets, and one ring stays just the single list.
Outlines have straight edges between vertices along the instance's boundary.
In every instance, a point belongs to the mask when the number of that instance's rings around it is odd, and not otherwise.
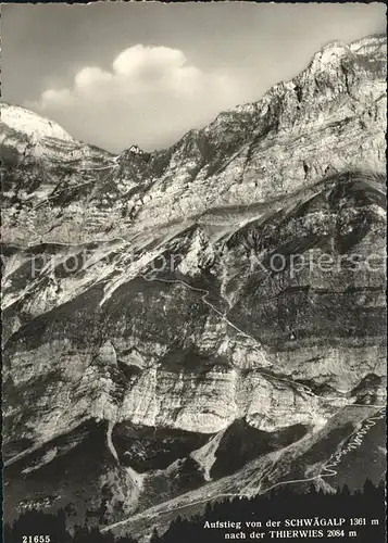
[{"label": "whole rocky mountain face from the skyline down to the zigzag trail", "polygon": [[331,43],[154,153],[3,106],[9,515],[146,536],[324,479],[384,402],[385,47]]}]

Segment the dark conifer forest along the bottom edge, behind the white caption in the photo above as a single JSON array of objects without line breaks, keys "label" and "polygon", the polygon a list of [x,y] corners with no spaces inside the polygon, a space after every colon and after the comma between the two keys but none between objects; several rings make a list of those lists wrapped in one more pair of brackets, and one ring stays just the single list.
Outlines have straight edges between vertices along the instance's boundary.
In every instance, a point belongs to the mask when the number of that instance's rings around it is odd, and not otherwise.
[{"label": "dark conifer forest along the bottom edge, behind the white caption", "polygon": [[[385,541],[385,485],[375,487],[366,481],[363,491],[351,493],[345,485],[335,494],[317,491],[311,485],[308,493],[297,488],[283,487],[264,495],[252,498],[224,500],[208,504],[204,515],[191,518],[178,516],[164,534],[154,530],[151,543],[217,543],[225,541],[223,530],[204,529],[205,521],[216,520],[264,522],[267,519],[285,518],[365,518],[368,526],[358,527],[356,543],[383,543]],[[378,519],[378,526],[371,523]],[[251,530],[247,530],[249,533]],[[99,528],[76,527],[72,533],[66,530],[66,516],[63,510],[55,515],[29,510],[22,514],[12,525],[5,525],[4,543],[22,543],[23,535],[41,533],[50,535],[51,543],[137,543],[130,536],[115,539],[110,532],[101,533]],[[247,536],[247,540],[249,538]],[[310,541],[303,538],[304,541]],[[333,539],[335,541],[336,538]],[[337,541],[339,539],[337,538]],[[277,542],[288,539],[277,538]],[[313,540],[311,540],[313,541]],[[315,540],[314,540],[315,541]],[[321,539],[326,541],[326,538]]]}]

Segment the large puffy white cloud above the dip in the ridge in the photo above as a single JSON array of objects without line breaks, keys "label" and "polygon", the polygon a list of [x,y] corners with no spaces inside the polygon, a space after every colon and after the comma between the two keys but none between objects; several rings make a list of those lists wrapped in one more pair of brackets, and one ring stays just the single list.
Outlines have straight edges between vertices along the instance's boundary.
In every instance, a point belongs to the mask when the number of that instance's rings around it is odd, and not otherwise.
[{"label": "large puffy white cloud above the dip in the ridge", "polygon": [[47,89],[29,103],[74,137],[120,151],[152,150],[241,101],[243,81],[225,71],[190,65],[178,49],[136,45],[110,70],[85,66],[68,88]]}]

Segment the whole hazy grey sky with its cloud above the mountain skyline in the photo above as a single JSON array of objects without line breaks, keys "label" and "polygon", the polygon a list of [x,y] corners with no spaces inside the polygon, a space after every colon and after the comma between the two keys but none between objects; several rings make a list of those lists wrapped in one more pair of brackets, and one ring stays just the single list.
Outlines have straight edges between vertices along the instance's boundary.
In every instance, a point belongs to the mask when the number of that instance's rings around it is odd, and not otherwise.
[{"label": "whole hazy grey sky with its cloud above the mountain skyline", "polygon": [[120,152],[259,100],[326,42],[383,33],[384,3],[2,5],[2,100]]}]

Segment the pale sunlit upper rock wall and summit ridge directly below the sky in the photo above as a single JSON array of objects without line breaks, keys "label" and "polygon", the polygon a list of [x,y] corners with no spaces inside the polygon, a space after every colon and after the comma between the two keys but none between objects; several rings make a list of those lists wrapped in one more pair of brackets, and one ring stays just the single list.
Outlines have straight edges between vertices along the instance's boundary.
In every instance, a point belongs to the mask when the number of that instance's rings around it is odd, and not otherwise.
[{"label": "pale sunlit upper rock wall and summit ridge directly below the sky", "polygon": [[[74,231],[77,240],[91,240],[101,238],[107,224],[111,237],[113,231],[142,230],[209,207],[265,202],[331,172],[365,166],[383,172],[386,45],[385,36],[328,43],[304,72],[276,85],[258,102],[221,113],[167,150],[142,153],[132,146],[115,161],[76,142],[57,124],[5,105],[2,156],[5,167],[17,164],[22,171],[17,187],[4,184],[4,228],[10,235],[17,223],[17,238],[29,240],[28,220],[22,212],[15,222],[17,212],[8,205],[9,197],[12,201],[15,191],[20,197],[24,185],[27,194],[21,198],[28,199],[28,216],[35,216],[41,239],[60,241],[64,231]],[[34,123],[36,143],[30,141]],[[137,161],[141,155],[145,160]],[[45,190],[32,198],[41,171]],[[110,202],[109,213],[103,202]],[[82,232],[74,205],[88,210]]]}]

